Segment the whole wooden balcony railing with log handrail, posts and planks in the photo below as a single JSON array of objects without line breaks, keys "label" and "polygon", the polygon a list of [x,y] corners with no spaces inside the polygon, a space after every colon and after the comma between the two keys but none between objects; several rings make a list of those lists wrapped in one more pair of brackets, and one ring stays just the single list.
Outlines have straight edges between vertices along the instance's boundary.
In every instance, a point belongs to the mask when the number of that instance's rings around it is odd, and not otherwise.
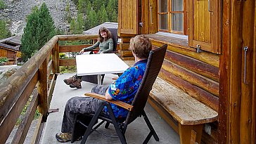
[{"label": "whole wooden balcony railing with log handrail, posts and planks", "polygon": [[[75,65],[75,59],[59,59],[59,53],[78,52],[91,45],[59,46],[58,41],[96,39],[97,35],[58,35],[48,41],[30,60],[0,85],[0,143],[5,143],[30,97],[30,105],[13,137],[12,143],[23,143],[34,113],[40,114],[32,143],[39,143],[46,122],[49,103],[60,66]],[[48,84],[48,81],[51,83]],[[35,89],[36,88],[36,89]]]}]

